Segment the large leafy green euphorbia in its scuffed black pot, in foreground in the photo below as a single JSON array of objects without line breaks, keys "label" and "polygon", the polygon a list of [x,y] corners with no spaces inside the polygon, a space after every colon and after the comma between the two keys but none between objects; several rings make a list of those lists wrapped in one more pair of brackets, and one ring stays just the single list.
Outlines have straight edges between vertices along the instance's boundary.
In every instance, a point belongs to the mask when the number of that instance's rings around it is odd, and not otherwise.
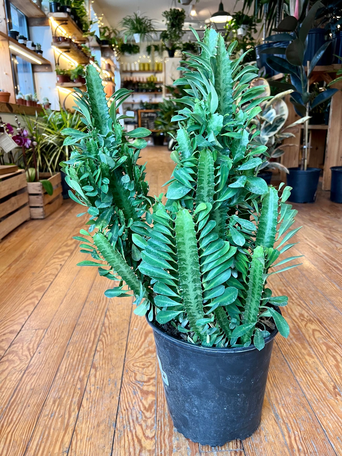
[{"label": "large leafy green euphorbia in its scuffed black pot, in foreground", "polygon": [[187,96],[173,118],[166,204],[148,195],[137,165],[150,131],[126,133],[116,114],[131,91],[119,89],[108,110],[91,65],[87,92],[76,89],[88,132],[63,130],[74,146],[63,168],[70,197],[89,214],[88,231],[75,238],[92,259],[80,265],[114,280],[106,296],[134,295],[135,314],[154,332],[176,429],[216,446],[259,425],[273,341],[289,334],[279,309],[287,297],[272,296],[267,280],[294,267],[274,269],[297,258],[278,259],[299,228],[289,231],[297,212],[285,203],[290,187],[256,176],[267,147],[250,123],[268,99],[258,98],[263,86],[249,87],[257,69],[242,67],[244,56],[230,59],[236,41],[226,49],[215,30],[203,40],[193,32],[202,52],[189,54],[174,83]]}]

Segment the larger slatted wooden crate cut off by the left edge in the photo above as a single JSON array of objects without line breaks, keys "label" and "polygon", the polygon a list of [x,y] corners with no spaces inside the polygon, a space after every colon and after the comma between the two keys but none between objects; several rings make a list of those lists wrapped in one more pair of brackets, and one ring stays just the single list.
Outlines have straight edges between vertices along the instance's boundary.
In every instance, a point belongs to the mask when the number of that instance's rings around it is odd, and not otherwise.
[{"label": "larger slatted wooden crate cut off by the left edge", "polygon": [[28,201],[25,171],[0,175],[0,239],[29,220]]}]

